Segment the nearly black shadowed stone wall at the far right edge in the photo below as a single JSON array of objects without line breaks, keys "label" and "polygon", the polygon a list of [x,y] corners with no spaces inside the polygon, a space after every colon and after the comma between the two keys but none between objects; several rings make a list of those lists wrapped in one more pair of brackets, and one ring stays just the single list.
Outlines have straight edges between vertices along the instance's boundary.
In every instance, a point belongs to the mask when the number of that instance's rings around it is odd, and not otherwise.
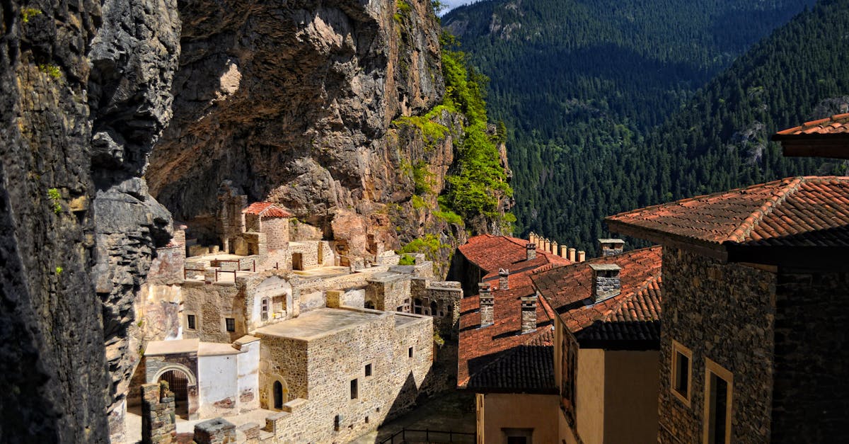
[{"label": "nearly black shadowed stone wall at the far right edge", "polygon": [[849,442],[849,275],[780,270],[776,293],[772,442]]}]

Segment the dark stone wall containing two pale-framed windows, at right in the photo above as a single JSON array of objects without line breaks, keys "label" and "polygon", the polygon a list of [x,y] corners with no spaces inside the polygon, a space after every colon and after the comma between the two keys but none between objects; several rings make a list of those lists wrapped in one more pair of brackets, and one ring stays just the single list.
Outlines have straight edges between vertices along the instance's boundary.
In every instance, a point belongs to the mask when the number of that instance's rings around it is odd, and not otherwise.
[{"label": "dark stone wall containing two pale-framed windows, at right", "polygon": [[[770,441],[775,274],[663,248],[659,442],[702,440],[705,358],[733,373],[731,441]],[[693,351],[690,406],[672,395],[672,339]]]}]

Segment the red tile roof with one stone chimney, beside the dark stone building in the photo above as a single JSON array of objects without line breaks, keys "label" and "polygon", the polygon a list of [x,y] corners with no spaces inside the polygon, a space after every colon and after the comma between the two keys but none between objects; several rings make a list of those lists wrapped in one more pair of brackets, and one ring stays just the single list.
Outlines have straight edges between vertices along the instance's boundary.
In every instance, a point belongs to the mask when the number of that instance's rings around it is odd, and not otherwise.
[{"label": "red tile roof with one stone chimney, beside the dark stone building", "polygon": [[[593,340],[644,341],[657,346],[661,321],[661,247],[590,259],[535,273],[531,280],[576,338],[587,329]],[[621,293],[592,302],[590,265],[620,267]]]}]

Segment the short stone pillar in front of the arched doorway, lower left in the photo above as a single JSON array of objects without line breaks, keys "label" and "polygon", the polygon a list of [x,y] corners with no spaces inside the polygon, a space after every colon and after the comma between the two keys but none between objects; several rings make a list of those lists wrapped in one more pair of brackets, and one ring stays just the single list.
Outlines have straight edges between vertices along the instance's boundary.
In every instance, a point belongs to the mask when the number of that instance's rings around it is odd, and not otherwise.
[{"label": "short stone pillar in front of the arched doorway, lower left", "polygon": [[170,444],[177,435],[168,383],[142,384],[142,444]]}]

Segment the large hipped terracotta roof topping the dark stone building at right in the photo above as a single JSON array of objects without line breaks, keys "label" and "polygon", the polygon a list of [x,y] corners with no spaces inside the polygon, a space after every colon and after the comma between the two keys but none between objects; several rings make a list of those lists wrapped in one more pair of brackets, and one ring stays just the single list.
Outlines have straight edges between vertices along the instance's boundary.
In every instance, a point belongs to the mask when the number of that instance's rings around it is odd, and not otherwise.
[{"label": "large hipped terracotta roof topping the dark stone building at right", "polygon": [[849,177],[796,177],[619,213],[611,231],[655,242],[849,246]]}]

